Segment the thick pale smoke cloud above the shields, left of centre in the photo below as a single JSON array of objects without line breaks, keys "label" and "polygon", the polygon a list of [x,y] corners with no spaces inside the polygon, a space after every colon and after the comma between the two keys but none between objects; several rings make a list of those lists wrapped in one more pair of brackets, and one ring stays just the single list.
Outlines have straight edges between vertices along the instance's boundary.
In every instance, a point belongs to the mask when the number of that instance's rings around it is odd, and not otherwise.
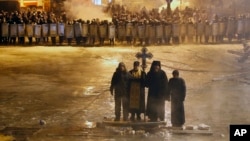
[{"label": "thick pale smoke cloud above the shields, left of centre", "polygon": [[92,0],[66,0],[64,10],[67,17],[73,19],[91,20],[110,20],[110,17],[103,12],[101,6],[94,5]]}]

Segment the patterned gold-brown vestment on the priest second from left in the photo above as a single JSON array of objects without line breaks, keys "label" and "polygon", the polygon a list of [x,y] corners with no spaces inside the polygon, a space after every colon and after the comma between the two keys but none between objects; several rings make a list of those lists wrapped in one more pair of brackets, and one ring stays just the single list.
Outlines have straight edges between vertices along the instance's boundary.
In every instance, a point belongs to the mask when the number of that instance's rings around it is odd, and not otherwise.
[{"label": "patterned gold-brown vestment on the priest second from left", "polygon": [[129,110],[143,113],[145,111],[145,76],[144,71],[130,70],[132,78],[129,81]]}]

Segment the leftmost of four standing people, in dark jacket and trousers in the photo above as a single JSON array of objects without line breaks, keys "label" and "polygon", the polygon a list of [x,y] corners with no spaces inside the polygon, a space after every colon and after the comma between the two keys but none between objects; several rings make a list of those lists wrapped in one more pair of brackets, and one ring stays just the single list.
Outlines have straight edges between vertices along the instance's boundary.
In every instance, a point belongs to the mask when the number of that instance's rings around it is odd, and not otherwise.
[{"label": "leftmost of four standing people, in dark jacket and trousers", "polygon": [[115,91],[115,121],[120,121],[121,107],[123,108],[123,120],[128,120],[128,81],[130,75],[126,66],[120,62],[111,79],[110,93]]}]

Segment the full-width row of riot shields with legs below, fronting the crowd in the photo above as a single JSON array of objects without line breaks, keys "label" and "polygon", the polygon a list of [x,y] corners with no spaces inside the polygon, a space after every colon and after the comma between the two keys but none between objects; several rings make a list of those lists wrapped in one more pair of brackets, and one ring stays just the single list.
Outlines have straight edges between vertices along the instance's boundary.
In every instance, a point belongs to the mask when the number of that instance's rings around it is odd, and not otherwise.
[{"label": "full-width row of riot shields with legs below, fronting the crowd", "polygon": [[[249,19],[229,19],[218,22],[118,22],[111,23],[50,23],[0,24],[0,44],[46,45],[110,45],[115,42],[135,45],[179,43],[220,43],[233,39],[247,39]],[[49,40],[50,39],[50,40]],[[49,42],[50,41],[50,42]],[[99,41],[99,42],[97,42]]]}]

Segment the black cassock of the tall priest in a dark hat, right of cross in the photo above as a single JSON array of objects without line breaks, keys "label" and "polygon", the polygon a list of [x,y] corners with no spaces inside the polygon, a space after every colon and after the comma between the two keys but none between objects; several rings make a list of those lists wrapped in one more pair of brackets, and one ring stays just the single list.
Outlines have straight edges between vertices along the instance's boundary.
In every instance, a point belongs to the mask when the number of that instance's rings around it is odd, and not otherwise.
[{"label": "black cassock of the tall priest in a dark hat, right of cross", "polygon": [[149,71],[146,76],[148,100],[146,114],[151,121],[165,119],[165,100],[168,97],[168,78],[163,70]]}]

